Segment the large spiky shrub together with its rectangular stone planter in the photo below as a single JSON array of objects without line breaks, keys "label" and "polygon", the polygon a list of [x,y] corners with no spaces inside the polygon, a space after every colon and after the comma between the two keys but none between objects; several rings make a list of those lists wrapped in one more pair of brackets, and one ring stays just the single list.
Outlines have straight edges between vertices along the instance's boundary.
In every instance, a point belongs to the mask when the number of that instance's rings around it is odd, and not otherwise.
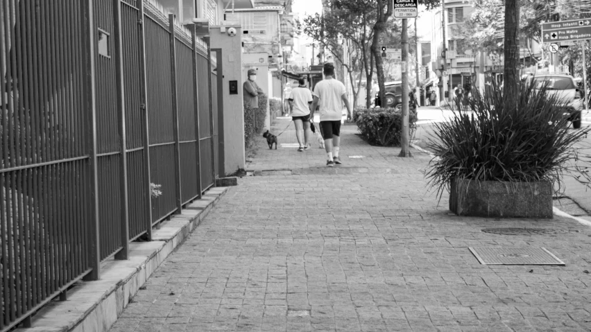
[{"label": "large spiky shrub together with its rectangular stone planter", "polygon": [[[560,190],[565,173],[589,185],[590,174],[570,162],[588,159],[579,155],[574,144],[589,130],[569,130],[565,110],[558,106],[560,100],[547,94],[545,87],[536,90],[523,83],[519,89],[513,107],[506,107],[497,86],[486,96],[474,90],[467,103],[452,103],[454,116],[449,122],[435,124],[428,144],[436,157],[426,176],[439,197],[443,191],[450,191],[452,211],[478,216],[535,216],[534,210],[542,209],[534,207],[536,200],[543,200],[547,216],[551,191],[554,184]],[[501,186],[504,193],[499,192]],[[481,197],[473,190],[480,190]],[[500,201],[497,204],[495,200]],[[505,211],[498,210],[506,205],[503,200],[517,203],[507,203]],[[525,207],[527,200],[533,203]]]}]

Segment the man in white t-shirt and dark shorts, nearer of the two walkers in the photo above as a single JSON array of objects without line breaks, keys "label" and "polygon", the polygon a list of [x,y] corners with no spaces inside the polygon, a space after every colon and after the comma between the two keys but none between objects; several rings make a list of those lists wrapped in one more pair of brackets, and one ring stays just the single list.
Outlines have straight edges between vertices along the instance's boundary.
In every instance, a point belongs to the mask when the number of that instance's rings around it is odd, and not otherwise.
[{"label": "man in white t-shirt and dark shorts, nearer of the two walkers", "polygon": [[[323,68],[325,79],[314,87],[314,101],[312,102],[312,114],[316,106],[320,112],[320,129],[323,134],[327,155],[326,166],[341,165],[339,149],[341,143],[341,117],[343,103],[347,107],[347,119],[353,119],[353,112],[349,105],[345,85],[334,79],[334,66],[327,63]],[[314,118],[312,118],[314,119]]]}]

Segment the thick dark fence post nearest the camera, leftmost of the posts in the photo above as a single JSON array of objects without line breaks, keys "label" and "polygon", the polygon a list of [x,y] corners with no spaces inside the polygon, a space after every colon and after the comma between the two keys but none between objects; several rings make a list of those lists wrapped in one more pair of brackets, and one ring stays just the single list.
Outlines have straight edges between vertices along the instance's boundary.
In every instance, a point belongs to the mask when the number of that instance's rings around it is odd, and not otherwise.
[{"label": "thick dark fence post nearest the camera, leftmost of the posts", "polygon": [[85,126],[86,132],[89,135],[87,141],[87,150],[89,158],[89,172],[87,179],[86,193],[88,197],[86,202],[88,204],[89,219],[88,219],[88,266],[92,271],[87,274],[84,279],[87,281],[99,280],[101,276],[101,241],[99,236],[99,174],[97,169],[96,158],[96,94],[95,94],[95,78],[94,72],[94,43],[96,37],[96,28],[94,26],[94,1],[87,0],[83,2],[85,15],[85,105],[87,108]]}]

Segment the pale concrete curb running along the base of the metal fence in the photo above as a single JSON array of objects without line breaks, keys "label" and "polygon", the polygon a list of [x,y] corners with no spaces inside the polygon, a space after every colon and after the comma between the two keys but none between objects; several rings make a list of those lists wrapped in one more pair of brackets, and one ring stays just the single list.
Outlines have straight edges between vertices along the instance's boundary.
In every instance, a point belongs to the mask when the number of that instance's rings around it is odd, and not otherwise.
[{"label": "pale concrete curb running along the base of the metal fence", "polygon": [[31,328],[16,331],[108,331],[130,298],[228,190],[227,187],[209,189],[202,200],[188,204],[182,214],[171,216],[160,229],[154,229],[153,241],[130,243],[128,261],[104,261],[100,280],[82,281],[68,290],[67,301],[50,302],[32,317]]}]

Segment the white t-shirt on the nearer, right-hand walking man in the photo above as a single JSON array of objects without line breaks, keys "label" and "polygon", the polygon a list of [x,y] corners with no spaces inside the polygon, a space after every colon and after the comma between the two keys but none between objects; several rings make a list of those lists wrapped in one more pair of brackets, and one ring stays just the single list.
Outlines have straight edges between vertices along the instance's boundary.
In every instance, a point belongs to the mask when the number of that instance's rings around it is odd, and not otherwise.
[{"label": "white t-shirt on the nearer, right-hand walking man", "polygon": [[320,105],[320,121],[341,121],[343,117],[343,94],[345,85],[340,80],[331,78],[321,80],[314,87],[314,96]]}]

